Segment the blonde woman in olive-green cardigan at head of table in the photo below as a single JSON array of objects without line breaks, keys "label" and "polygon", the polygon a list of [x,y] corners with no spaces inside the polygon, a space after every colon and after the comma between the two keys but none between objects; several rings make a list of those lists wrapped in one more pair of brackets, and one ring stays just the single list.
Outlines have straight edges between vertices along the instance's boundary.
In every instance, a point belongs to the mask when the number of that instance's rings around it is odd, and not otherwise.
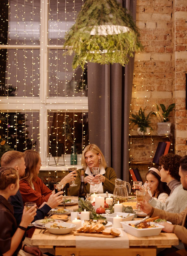
[{"label": "blonde woman in olive-green cardigan at head of table", "polygon": [[[95,144],[89,144],[82,152],[81,164],[84,169],[84,183],[88,193],[108,193],[113,194],[115,188],[116,173],[111,167],[106,166],[103,153]],[[92,174],[92,167],[99,167],[100,173],[95,177]],[[76,187],[70,187],[71,196],[77,196],[81,184],[81,170],[77,170],[75,183]]]}]

